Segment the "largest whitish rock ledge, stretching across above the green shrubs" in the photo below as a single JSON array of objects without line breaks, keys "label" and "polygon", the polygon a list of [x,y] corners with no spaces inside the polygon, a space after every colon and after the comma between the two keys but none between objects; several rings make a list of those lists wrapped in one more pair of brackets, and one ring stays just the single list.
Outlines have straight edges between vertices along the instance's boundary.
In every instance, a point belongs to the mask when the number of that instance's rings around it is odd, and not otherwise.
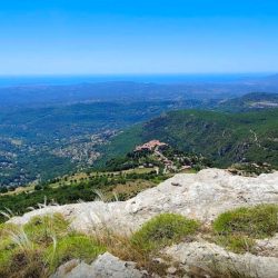
[{"label": "largest whitish rock ledge, stretching across above the green shrubs", "polygon": [[226,210],[264,202],[278,203],[278,172],[251,178],[206,169],[198,173],[176,175],[128,201],[48,207],[10,221],[22,225],[33,216],[60,212],[77,230],[90,232],[96,227],[106,226],[128,232],[161,212],[177,212],[209,224]]}]

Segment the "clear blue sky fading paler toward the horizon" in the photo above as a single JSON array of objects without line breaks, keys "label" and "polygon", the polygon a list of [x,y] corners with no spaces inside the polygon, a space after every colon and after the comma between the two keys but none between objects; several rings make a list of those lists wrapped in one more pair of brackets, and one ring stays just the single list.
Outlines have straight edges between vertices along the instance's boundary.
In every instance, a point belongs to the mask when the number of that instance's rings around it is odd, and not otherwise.
[{"label": "clear blue sky fading paler toward the horizon", "polygon": [[0,3],[0,75],[276,71],[277,0]]}]

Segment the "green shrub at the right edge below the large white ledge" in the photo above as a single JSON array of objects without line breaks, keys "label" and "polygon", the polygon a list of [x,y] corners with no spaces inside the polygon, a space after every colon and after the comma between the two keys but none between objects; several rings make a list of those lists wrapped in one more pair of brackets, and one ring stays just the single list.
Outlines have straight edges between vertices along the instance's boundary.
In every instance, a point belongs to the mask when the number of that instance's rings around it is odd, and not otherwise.
[{"label": "green shrub at the right edge below the large white ledge", "polygon": [[272,237],[278,232],[278,206],[259,205],[227,211],[216,219],[214,230],[220,235]]}]

